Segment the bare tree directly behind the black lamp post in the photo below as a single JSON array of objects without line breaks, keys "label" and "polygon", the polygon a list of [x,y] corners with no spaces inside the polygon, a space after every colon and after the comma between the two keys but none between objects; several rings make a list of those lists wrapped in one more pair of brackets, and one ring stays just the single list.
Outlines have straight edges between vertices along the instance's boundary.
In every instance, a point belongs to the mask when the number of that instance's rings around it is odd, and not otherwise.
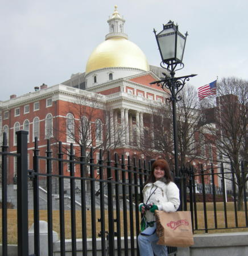
[{"label": "bare tree directly behind the black lamp post", "polygon": [[[139,150],[149,158],[162,156],[173,162],[173,117],[171,102],[152,104],[148,108],[150,122],[144,127]],[[181,100],[177,102],[177,129],[180,165],[186,165],[199,154],[204,142],[196,143],[196,134],[201,132],[202,112],[197,92],[193,86],[185,86]]]}]

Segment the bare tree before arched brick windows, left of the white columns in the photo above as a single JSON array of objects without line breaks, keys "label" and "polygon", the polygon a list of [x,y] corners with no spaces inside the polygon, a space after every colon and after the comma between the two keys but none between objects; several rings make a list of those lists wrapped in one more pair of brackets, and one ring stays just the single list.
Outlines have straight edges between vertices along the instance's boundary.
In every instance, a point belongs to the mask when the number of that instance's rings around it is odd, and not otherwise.
[{"label": "bare tree before arched brick windows, left of the white columns", "polygon": [[[64,118],[60,126],[60,133],[67,138],[67,142],[82,146],[84,154],[89,159],[90,148],[93,153],[100,150],[103,155],[108,150],[115,150],[120,146],[124,130],[118,130],[114,134],[111,127],[111,110],[98,94],[79,95],[76,100],[68,103],[67,118]],[[69,148],[64,147],[67,154]],[[78,154],[77,154],[78,155]]]}]

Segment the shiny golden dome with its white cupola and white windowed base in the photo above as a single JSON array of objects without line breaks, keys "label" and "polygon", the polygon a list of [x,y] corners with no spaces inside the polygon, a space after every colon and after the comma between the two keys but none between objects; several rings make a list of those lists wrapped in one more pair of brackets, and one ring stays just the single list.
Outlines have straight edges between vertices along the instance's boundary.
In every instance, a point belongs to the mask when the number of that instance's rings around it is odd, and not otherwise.
[{"label": "shiny golden dome with its white cupola and white windowed base", "polygon": [[[149,71],[146,56],[123,32],[125,19],[114,7],[109,17],[109,34],[90,54],[85,68],[86,87]],[[110,75],[111,74],[111,75]],[[97,79],[96,79],[97,76]]]}]

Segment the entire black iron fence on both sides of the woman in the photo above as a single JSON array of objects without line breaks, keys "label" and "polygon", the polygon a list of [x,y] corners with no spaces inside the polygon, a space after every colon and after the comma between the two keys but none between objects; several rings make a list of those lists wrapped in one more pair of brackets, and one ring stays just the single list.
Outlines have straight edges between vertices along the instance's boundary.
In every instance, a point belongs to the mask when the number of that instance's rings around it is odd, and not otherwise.
[{"label": "entire black iron fence on both sides of the woman", "polygon": [[[42,208],[40,186],[44,184],[47,191],[47,255],[53,255],[54,252],[53,230],[59,233],[60,255],[65,255],[65,240],[67,238],[71,241],[71,255],[77,255],[78,247],[80,247],[80,253],[78,253],[80,255],[97,255],[99,253],[97,251],[99,238],[101,240],[101,255],[121,255],[123,252],[125,255],[139,255],[136,240],[140,225],[138,204],[143,201],[140,192],[149,173],[150,162],[146,163],[146,161],[130,157],[125,159],[124,155],[119,158],[117,154],[111,158],[110,152],[104,159],[101,150],[96,161],[93,157],[93,148],[89,152],[89,158],[86,158],[85,150],[82,147],[80,147],[80,155],[76,157],[73,144],[70,145],[68,157],[65,157],[61,142],[57,144],[57,157],[54,157],[49,141],[47,142],[46,156],[42,156],[39,154],[39,145],[36,139],[33,150],[33,168],[28,170],[27,132],[17,132],[16,154],[8,152],[7,148],[6,135],[3,134],[3,146],[2,152],[0,152],[2,155],[2,255],[8,255],[7,238],[8,232],[10,232],[7,228],[9,219],[7,210],[8,158],[17,158],[19,256],[27,256],[30,253],[28,251],[30,223],[34,223],[34,255],[40,255],[40,250],[43,250],[40,248],[39,221],[44,218],[41,216],[43,213],[40,210]],[[45,171],[40,170],[40,162],[46,163]],[[78,175],[78,170],[80,175]],[[196,172],[193,168],[181,170],[182,208],[191,210],[194,231],[208,232],[211,229],[248,228],[247,170],[242,164],[242,211],[238,210],[238,191],[235,182],[232,183],[233,201],[228,203],[226,200],[225,180],[227,175],[229,175],[229,180],[236,179],[232,167],[230,170],[226,172],[223,164],[219,169],[212,167],[207,171],[204,168],[201,168],[200,172]],[[31,191],[31,195],[28,191]],[[221,198],[221,202],[218,202],[220,198],[217,199],[216,191],[220,194],[218,197]],[[54,193],[58,194],[57,201],[59,203],[57,204]],[[209,199],[209,194],[212,195],[211,199]],[[230,204],[232,205],[230,206]],[[32,214],[28,215],[30,211]],[[59,221],[55,220],[57,215]],[[28,218],[28,216],[32,217]],[[234,225],[229,224],[230,218],[235,220]],[[221,223],[223,220],[224,225]],[[78,238],[81,238],[80,246],[78,246]],[[168,250],[170,254],[176,253],[174,247],[168,247]]]}]

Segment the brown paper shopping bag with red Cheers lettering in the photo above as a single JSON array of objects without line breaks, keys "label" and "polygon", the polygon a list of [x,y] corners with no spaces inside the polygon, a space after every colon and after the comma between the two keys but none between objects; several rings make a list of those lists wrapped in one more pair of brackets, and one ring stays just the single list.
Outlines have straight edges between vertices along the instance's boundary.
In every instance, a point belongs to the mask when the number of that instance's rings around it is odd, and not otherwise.
[{"label": "brown paper shopping bag with red Cheers lettering", "polygon": [[155,210],[158,245],[188,247],[194,244],[191,212]]}]

